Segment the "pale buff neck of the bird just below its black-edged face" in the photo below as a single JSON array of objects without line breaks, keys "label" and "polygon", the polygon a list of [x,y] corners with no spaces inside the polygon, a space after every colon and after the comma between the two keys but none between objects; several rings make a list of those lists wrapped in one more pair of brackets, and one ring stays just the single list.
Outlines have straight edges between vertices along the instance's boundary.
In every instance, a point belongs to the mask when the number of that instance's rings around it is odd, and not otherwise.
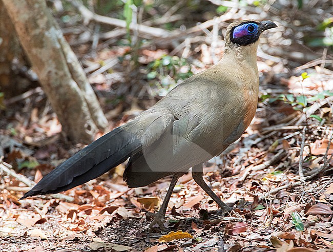
[{"label": "pale buff neck of the bird just below its black-edged face", "polygon": [[231,43],[226,43],[222,60],[232,61],[243,67],[252,67],[258,71],[257,67],[257,48],[259,41],[248,46],[239,46]]}]

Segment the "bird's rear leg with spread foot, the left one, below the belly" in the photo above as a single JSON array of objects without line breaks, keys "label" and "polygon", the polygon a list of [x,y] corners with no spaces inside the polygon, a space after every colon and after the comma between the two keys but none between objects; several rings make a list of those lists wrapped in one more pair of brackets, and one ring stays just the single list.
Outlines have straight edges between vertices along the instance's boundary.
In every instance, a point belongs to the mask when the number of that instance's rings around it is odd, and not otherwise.
[{"label": "bird's rear leg with spread foot, the left one, below the belly", "polygon": [[154,217],[154,220],[150,223],[149,227],[154,226],[155,224],[158,224],[159,227],[162,230],[165,230],[165,227],[163,225],[164,223],[164,218],[165,218],[165,213],[166,213],[166,208],[168,208],[169,200],[171,198],[172,192],[175,188],[175,185],[178,181],[178,179],[183,175],[183,173],[176,173],[172,177],[168,192],[166,192],[165,198],[163,200],[163,203],[157,213],[147,213],[147,216],[152,216]]}]

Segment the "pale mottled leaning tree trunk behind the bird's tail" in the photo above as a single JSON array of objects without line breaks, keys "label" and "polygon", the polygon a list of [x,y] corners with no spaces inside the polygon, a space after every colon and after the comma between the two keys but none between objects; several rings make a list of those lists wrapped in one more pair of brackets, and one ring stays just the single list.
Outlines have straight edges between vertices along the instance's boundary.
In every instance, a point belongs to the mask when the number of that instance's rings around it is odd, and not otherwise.
[{"label": "pale mottled leaning tree trunk behind the bird's tail", "polygon": [[44,0],[2,0],[63,131],[90,143],[107,127],[99,102]]}]

